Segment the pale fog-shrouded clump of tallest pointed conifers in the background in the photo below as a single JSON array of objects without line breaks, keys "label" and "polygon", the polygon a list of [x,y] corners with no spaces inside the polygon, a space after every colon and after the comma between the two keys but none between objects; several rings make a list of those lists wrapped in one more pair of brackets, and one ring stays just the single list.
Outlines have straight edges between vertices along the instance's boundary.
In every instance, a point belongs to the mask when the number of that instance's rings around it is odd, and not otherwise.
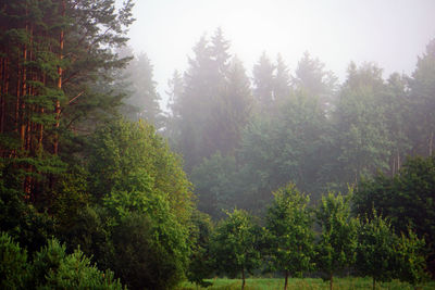
[{"label": "pale fog-shrouded clump of tallest pointed conifers in the background", "polygon": [[191,173],[217,151],[234,155],[241,130],[249,122],[252,97],[241,62],[228,52],[229,42],[217,28],[209,40],[201,37],[189,58],[184,77],[171,80],[172,116],[167,133]]}]

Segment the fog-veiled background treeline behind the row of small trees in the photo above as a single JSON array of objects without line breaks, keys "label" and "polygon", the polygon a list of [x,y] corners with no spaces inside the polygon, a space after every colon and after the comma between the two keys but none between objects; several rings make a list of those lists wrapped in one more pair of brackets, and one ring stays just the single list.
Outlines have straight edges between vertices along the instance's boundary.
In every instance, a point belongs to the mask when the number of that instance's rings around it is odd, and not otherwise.
[{"label": "fog-veiled background treeline behind the row of small trees", "polygon": [[315,201],[377,171],[393,176],[408,155],[433,154],[434,41],[411,76],[384,79],[373,63],[350,63],[343,84],[309,53],[294,73],[263,53],[250,78],[229,51],[221,29],[202,37],[169,83],[164,134],[213,218],[234,205],[261,211],[288,180]]}]

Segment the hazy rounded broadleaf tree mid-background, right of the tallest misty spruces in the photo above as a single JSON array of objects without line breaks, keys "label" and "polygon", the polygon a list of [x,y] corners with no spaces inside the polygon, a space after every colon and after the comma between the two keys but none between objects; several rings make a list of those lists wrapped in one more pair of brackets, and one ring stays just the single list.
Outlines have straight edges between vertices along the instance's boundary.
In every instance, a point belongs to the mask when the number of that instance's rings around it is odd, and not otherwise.
[{"label": "hazy rounded broadleaf tree mid-background, right of the tallest misty spruces", "polygon": [[248,209],[263,207],[270,192],[289,179],[318,197],[324,186],[320,174],[330,157],[325,154],[328,131],[319,99],[301,91],[282,100],[273,117],[252,121],[238,155]]}]

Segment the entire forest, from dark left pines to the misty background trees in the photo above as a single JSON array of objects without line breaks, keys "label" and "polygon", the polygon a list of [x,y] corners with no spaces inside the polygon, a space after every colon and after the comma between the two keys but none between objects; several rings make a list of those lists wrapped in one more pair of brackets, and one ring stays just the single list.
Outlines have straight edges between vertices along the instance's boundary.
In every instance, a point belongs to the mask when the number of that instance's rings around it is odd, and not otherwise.
[{"label": "entire forest, from dark left pines to the misty background trees", "polygon": [[309,52],[246,67],[216,27],[163,105],[133,7],[0,0],[1,289],[433,286],[435,38],[339,81]]}]

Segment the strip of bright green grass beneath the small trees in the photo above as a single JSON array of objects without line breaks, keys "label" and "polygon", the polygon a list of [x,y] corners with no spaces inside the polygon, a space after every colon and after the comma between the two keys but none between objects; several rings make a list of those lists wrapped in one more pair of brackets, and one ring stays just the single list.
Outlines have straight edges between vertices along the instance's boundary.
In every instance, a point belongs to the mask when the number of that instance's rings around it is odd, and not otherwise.
[{"label": "strip of bright green grass beneath the small trees", "polygon": [[[209,288],[197,288],[195,285],[189,282],[182,283],[177,290],[196,290],[196,289],[208,289],[208,290],[233,290],[240,289],[240,279],[225,279],[216,278],[209,279],[208,281],[213,282],[212,287]],[[245,289],[247,290],[278,290],[284,288],[284,279],[276,278],[251,278],[246,279]],[[322,279],[304,278],[304,279],[289,279],[288,289],[303,289],[303,290],[328,290],[330,282],[323,281]],[[335,278],[334,279],[335,290],[350,290],[350,289],[372,289],[371,278]],[[376,283],[376,289],[388,289],[388,290],[413,290],[414,288],[409,283],[400,281],[391,281],[384,283]],[[424,285],[422,290],[434,290],[435,282],[431,281]]]}]

